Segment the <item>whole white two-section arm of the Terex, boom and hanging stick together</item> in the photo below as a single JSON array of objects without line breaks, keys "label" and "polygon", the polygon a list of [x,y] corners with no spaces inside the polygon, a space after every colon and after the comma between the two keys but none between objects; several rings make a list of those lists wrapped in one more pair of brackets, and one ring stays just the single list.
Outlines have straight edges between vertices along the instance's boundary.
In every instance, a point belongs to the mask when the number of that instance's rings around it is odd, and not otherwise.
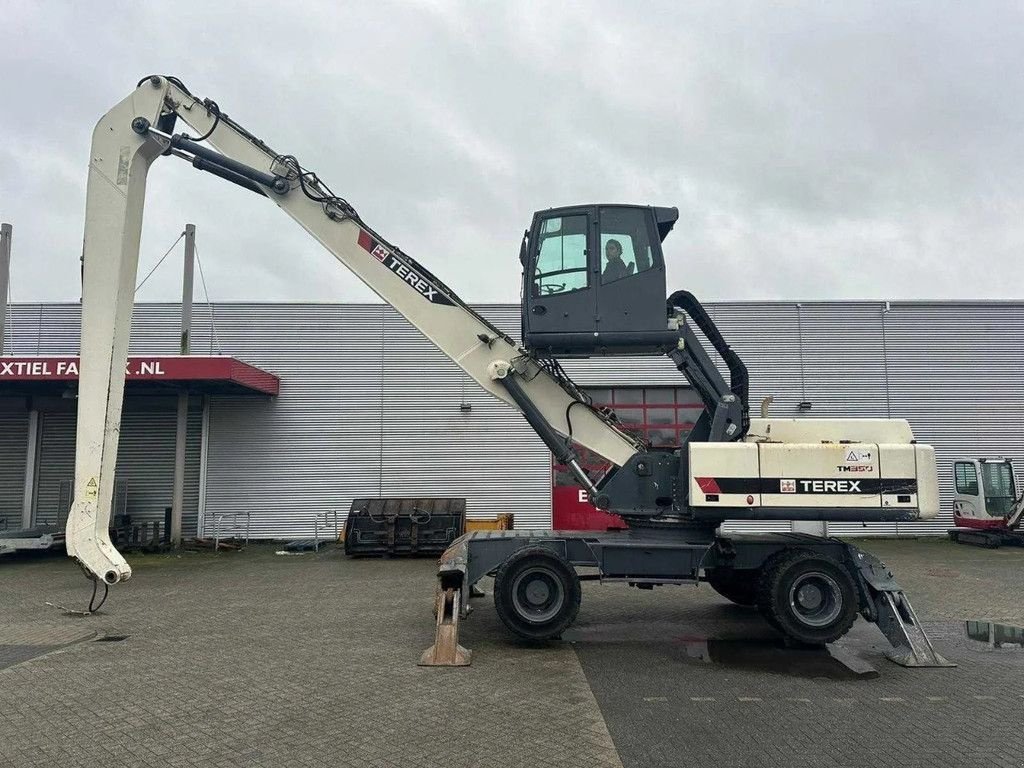
[{"label": "whole white two-section arm of the Terex, boom and hanging stick together", "polygon": [[[578,401],[561,383],[524,355],[514,341],[466,306],[429,271],[371,230],[343,200],[220,114],[213,102],[193,96],[173,78],[142,80],[136,90],[102,117],[92,135],[86,198],[82,342],[75,459],[75,501],[68,516],[68,554],[93,579],[127,580],[131,568],[109,534],[114,470],[121,427],[125,365],[134,305],[142,206],[150,164],[161,154],[203,159],[171,148],[172,116],[190,126],[227,162],[280,178],[248,181],[295,219],[378,296],[416,326],[490,394],[515,407],[499,382],[509,369],[547,422],[613,464],[637,453],[638,441]],[[144,119],[144,120],[139,120]],[[223,166],[220,166],[224,175]],[[230,176],[230,172],[228,172]],[[232,180],[245,179],[236,176]]]}]

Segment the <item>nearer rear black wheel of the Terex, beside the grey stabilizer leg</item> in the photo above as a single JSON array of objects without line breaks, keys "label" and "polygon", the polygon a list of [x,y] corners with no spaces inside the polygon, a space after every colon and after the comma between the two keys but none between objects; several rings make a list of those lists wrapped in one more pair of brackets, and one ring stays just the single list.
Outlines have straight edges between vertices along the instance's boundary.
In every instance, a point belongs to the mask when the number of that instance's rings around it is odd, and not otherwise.
[{"label": "nearer rear black wheel of the Terex, beside the grey stabilizer leg", "polygon": [[849,571],[828,555],[784,550],[764,567],[758,607],[768,623],[803,645],[824,645],[843,637],[860,611]]}]

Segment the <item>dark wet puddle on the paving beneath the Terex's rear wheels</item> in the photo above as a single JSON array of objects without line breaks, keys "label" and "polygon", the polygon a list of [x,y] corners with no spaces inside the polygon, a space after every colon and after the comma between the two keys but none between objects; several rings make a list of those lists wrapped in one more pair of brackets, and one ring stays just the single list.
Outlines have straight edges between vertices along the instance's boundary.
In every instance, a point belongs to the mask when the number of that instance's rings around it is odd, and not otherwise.
[{"label": "dark wet puddle on the paving beneath the Terex's rear wheels", "polygon": [[871,665],[838,645],[794,648],[781,640],[717,638],[682,638],[677,642],[683,647],[685,660],[695,664],[829,680],[864,680],[879,676]]}]

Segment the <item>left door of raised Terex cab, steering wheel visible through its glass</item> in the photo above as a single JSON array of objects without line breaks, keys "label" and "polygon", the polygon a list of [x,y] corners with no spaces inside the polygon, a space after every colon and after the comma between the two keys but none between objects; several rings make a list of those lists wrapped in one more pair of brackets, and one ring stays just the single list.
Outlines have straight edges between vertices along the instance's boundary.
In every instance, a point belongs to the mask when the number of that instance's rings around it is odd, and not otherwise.
[{"label": "left door of raised Terex cab, steering wheel visible through its glass", "polygon": [[593,333],[594,291],[591,209],[538,214],[524,281],[524,326],[530,334]]}]

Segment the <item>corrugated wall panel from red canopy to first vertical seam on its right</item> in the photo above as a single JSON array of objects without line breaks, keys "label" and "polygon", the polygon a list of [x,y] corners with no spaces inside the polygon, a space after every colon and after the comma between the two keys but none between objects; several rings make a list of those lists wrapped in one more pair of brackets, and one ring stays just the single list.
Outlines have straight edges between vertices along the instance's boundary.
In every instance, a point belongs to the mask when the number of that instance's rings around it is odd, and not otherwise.
[{"label": "corrugated wall panel from red canopy to first vertical seam on its right", "polygon": [[380,487],[379,306],[218,307],[229,350],[282,378],[275,398],[214,397],[206,520],[248,511],[253,534],[312,536],[313,518]]}]

